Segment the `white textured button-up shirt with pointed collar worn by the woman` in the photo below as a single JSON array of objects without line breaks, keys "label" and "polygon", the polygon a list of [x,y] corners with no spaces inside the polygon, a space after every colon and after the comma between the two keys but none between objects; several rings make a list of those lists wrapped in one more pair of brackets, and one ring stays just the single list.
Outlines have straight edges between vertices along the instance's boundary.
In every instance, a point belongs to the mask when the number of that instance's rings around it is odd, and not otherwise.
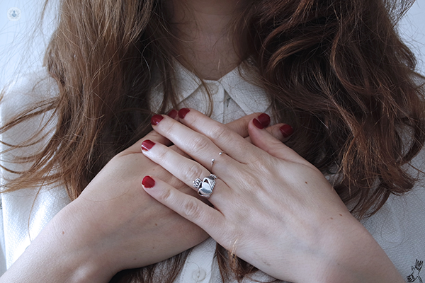
[{"label": "white textured button-up shirt with pointed collar worn by the woman", "polygon": [[[177,66],[177,89],[181,94],[180,106],[208,110],[205,105],[206,96],[200,87],[200,80],[191,72]],[[245,74],[244,74],[245,75]],[[1,121],[7,120],[17,112],[47,96],[55,96],[55,81],[47,78],[45,71],[40,74],[23,76],[7,91],[1,103]],[[268,100],[258,86],[244,81],[237,69],[218,81],[206,81],[213,100],[212,118],[220,122],[230,122],[252,112],[268,112]],[[153,91],[153,108],[158,108],[162,100],[160,88]],[[48,114],[46,115],[48,117]],[[46,117],[34,118],[25,125],[14,127],[1,137],[8,143],[20,143],[30,137],[42,125]],[[52,127],[53,127],[52,123]],[[5,149],[5,146],[2,146]],[[34,152],[35,146],[13,152],[14,155],[25,155]],[[26,168],[25,165],[8,163],[11,154],[1,156],[2,165],[16,170]],[[424,152],[415,158],[415,165],[424,168]],[[11,173],[1,171],[1,178],[13,178]],[[0,213],[0,268],[1,272],[10,267],[30,240],[52,217],[62,209],[69,199],[63,187],[42,187],[35,196],[35,190],[20,190],[1,195],[3,204]],[[1,227],[1,225],[3,227]],[[374,216],[364,221],[365,227],[372,233],[392,262],[407,282],[421,282],[420,261],[425,260],[425,189],[419,182],[412,192],[401,197],[392,196],[390,200]],[[176,283],[221,282],[217,262],[213,255],[215,241],[211,238],[193,248]],[[0,273],[1,274],[1,273]],[[270,280],[271,278],[258,272],[254,279]],[[252,282],[246,279],[244,282]]]}]

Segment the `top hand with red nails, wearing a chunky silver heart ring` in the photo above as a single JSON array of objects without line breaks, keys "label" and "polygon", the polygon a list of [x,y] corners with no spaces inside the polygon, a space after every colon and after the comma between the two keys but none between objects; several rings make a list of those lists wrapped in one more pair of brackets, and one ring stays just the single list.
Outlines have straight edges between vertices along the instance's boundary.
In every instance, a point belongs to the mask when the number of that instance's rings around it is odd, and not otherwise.
[{"label": "top hand with red nails, wearing a chunky silver heart ring", "polygon": [[196,110],[185,108],[179,116],[184,125],[164,116],[154,130],[194,160],[162,144],[144,154],[190,186],[197,178],[217,175],[209,198],[214,207],[154,175],[143,182],[149,195],[278,279],[402,282],[324,175],[258,120],[249,122],[250,144]]}]

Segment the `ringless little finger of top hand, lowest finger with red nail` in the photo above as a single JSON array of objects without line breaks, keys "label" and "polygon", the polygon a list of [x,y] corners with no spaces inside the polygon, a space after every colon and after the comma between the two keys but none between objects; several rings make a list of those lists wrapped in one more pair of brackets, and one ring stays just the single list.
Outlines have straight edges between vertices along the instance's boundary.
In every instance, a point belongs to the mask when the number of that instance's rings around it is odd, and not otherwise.
[{"label": "ringless little finger of top hand, lowest finger with red nail", "polygon": [[208,234],[214,233],[214,231],[222,231],[225,217],[196,197],[186,195],[152,176],[143,178],[142,185],[145,191],[155,200],[192,221]]}]

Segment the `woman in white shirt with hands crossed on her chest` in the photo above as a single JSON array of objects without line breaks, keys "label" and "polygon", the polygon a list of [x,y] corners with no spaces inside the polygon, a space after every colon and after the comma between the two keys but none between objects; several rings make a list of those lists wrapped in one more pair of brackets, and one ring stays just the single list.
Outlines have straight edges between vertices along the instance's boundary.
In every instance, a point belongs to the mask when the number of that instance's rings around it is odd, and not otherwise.
[{"label": "woman in white shirt with hands crossed on her chest", "polygon": [[33,204],[27,226],[50,221],[0,282],[420,278],[423,78],[394,30],[408,6],[62,1],[57,89],[2,128],[18,156],[3,196],[73,202]]}]

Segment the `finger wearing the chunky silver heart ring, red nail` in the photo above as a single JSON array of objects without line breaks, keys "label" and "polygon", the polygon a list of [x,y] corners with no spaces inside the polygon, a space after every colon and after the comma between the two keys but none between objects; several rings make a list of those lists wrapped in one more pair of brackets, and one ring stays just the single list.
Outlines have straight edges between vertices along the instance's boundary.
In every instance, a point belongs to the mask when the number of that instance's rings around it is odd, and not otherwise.
[{"label": "finger wearing the chunky silver heart ring, red nail", "polygon": [[[185,183],[189,187],[192,187],[193,190],[196,190],[196,192],[198,192],[198,189],[193,187],[193,181],[198,178],[200,180],[203,180],[203,178],[210,175],[210,171],[208,171],[207,168],[201,166],[198,162],[193,161],[190,158],[181,156],[181,154],[170,149],[168,146],[164,146],[163,144],[154,144],[150,147],[150,149],[144,150],[143,154],[145,154],[145,156],[147,156],[147,158],[149,158],[150,160],[154,161],[154,163],[157,163],[159,166],[162,166],[162,168],[164,168],[166,171],[169,171],[169,173],[174,175],[183,183]],[[179,166],[176,166],[176,164],[179,164]],[[222,183],[222,181],[219,181],[218,179],[216,179],[216,182]],[[222,184],[225,185],[225,183]],[[220,193],[220,190],[225,187],[223,185],[218,186],[220,187],[218,192],[220,197],[223,197]],[[213,201],[213,195],[208,200]]]}]

